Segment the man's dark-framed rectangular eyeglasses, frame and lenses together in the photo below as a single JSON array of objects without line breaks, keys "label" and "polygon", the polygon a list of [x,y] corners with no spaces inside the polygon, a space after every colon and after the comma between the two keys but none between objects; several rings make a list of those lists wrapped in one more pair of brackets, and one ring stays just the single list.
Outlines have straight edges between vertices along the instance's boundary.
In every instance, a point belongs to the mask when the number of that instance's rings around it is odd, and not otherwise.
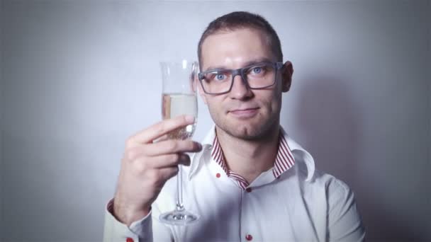
[{"label": "man's dark-framed rectangular eyeglasses, frame and lenses together", "polygon": [[277,71],[283,62],[260,62],[240,69],[212,69],[198,74],[203,91],[207,94],[230,92],[235,76],[241,76],[250,89],[264,89],[274,86]]}]

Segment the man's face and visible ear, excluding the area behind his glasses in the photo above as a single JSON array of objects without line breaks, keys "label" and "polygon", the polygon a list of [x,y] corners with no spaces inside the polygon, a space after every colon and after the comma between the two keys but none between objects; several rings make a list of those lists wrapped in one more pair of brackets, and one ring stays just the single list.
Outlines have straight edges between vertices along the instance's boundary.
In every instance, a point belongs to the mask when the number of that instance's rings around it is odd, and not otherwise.
[{"label": "man's face and visible ear, excluding the area behind his glasses", "polygon": [[[276,62],[267,36],[261,30],[243,28],[209,35],[201,47],[201,71],[239,69],[250,62]],[[235,76],[232,90],[221,95],[201,96],[220,131],[240,139],[260,139],[279,126],[281,93],[289,91],[291,63],[278,71],[274,86],[251,90]]]}]

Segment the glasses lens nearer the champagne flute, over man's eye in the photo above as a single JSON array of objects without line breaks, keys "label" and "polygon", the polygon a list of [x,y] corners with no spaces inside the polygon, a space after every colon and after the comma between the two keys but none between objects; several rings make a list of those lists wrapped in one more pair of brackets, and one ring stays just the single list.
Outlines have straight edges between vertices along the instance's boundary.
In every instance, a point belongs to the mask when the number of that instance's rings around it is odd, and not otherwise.
[{"label": "glasses lens nearer the champagne flute, over man's eye", "polygon": [[229,91],[232,73],[228,70],[211,71],[201,75],[203,89],[207,93],[224,93]]}]

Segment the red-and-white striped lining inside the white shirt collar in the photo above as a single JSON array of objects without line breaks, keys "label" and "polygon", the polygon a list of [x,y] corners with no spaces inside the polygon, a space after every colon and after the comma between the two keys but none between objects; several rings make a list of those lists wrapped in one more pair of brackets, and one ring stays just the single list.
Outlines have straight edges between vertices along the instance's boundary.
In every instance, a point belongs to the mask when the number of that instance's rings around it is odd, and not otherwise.
[{"label": "red-and-white striped lining inside the white shirt collar", "polygon": [[[242,178],[241,175],[238,175],[237,173],[228,169],[223,156],[223,150],[221,149],[220,143],[217,139],[217,135],[215,135],[213,140],[213,150],[211,152],[211,157],[221,168],[223,168],[223,171],[225,171],[229,178],[233,178],[237,181],[237,184],[240,186],[240,188],[242,188],[242,190],[245,190],[250,185],[247,180],[245,180],[245,178]],[[283,133],[280,132],[279,150],[277,151],[274,168],[272,168],[274,178],[278,178],[282,173],[289,170],[294,164],[295,160],[293,159],[291,149],[289,148]]]}]

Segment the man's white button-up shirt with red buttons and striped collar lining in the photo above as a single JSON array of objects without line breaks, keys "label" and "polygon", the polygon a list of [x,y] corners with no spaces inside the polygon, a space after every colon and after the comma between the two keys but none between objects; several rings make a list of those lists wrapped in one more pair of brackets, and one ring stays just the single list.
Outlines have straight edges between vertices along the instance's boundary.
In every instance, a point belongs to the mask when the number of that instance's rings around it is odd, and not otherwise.
[{"label": "man's white button-up shirt with red buttons and striped collar lining", "polygon": [[313,157],[283,129],[274,167],[251,184],[223,165],[214,128],[202,146],[182,173],[184,206],[200,215],[197,222],[171,226],[159,221],[161,212],[175,208],[177,179],[172,178],[150,214],[130,227],[113,217],[108,202],[103,241],[364,240],[352,190],[315,170]]}]

